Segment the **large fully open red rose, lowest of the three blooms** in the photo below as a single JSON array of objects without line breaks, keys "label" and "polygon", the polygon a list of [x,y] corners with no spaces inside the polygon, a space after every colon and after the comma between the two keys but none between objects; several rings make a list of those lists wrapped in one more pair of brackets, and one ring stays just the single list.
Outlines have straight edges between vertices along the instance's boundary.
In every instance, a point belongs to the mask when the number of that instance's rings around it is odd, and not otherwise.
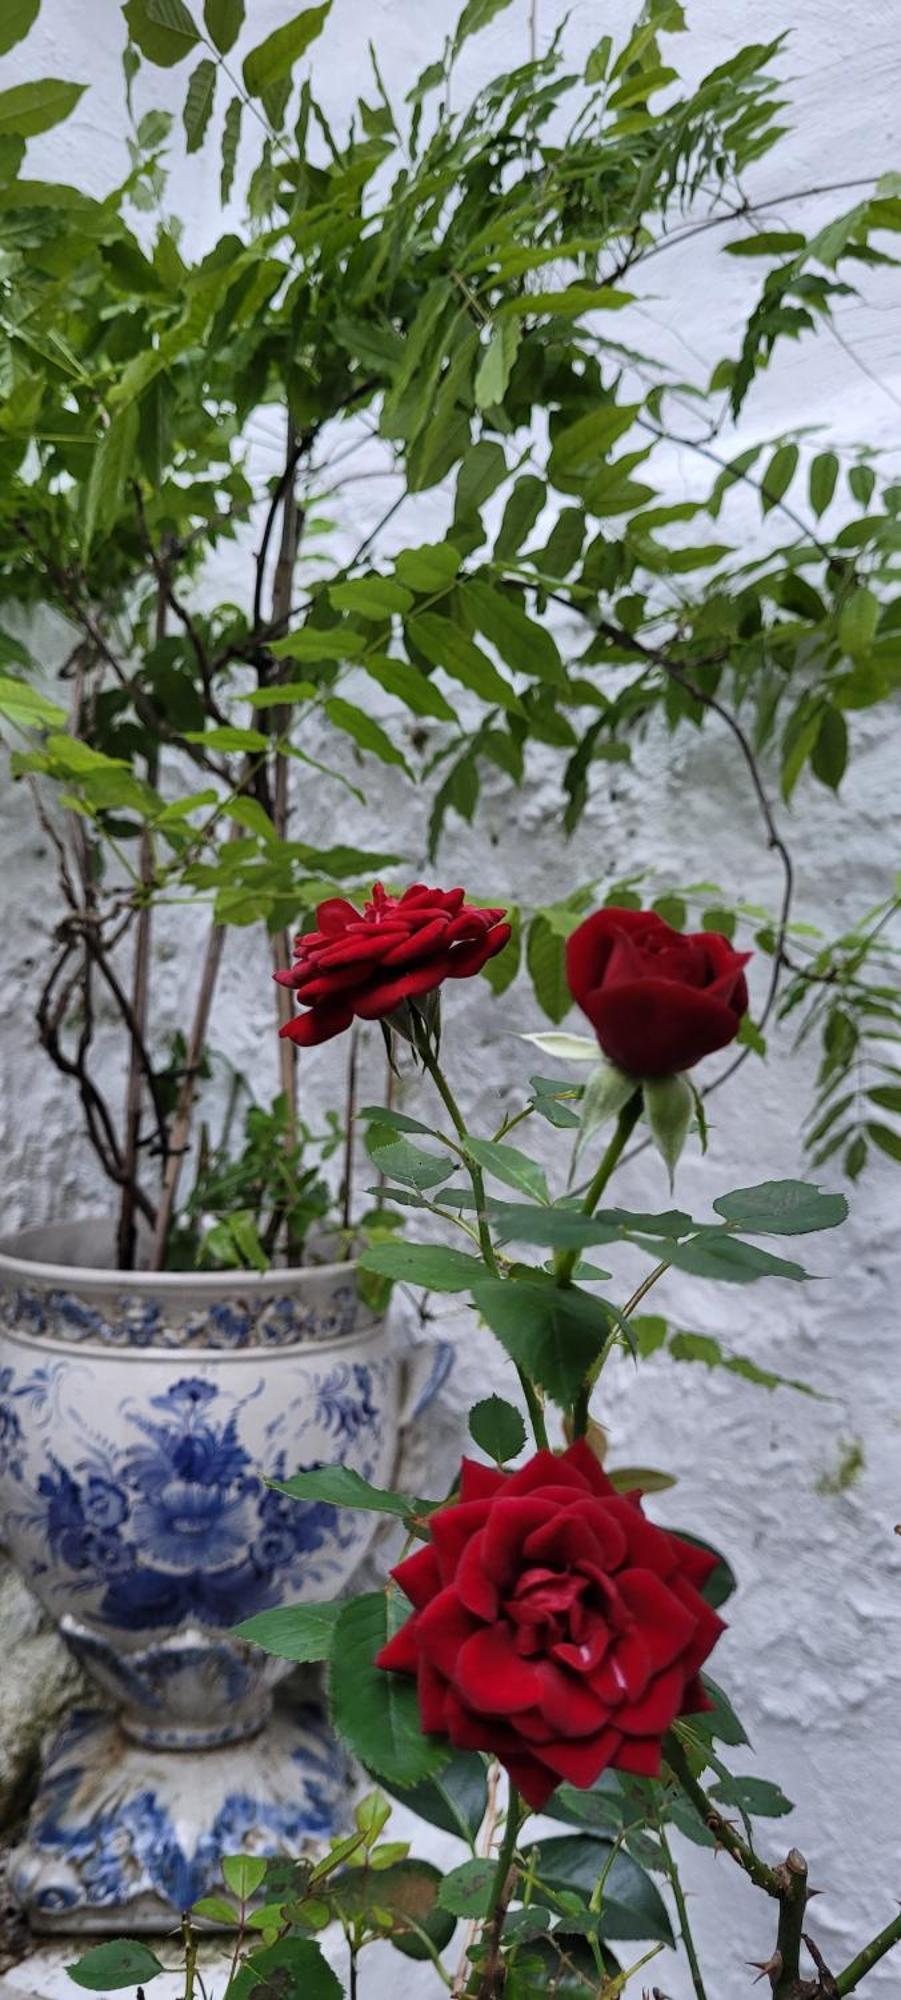
[{"label": "large fully open red rose, lowest of the three blooms", "polygon": [[519,1472],[463,1460],[461,1498],[392,1574],[414,1606],[376,1664],[416,1676],[422,1728],[491,1750],[535,1810],[603,1770],[653,1778],[725,1630],[709,1552],[651,1526],[579,1440]]}]

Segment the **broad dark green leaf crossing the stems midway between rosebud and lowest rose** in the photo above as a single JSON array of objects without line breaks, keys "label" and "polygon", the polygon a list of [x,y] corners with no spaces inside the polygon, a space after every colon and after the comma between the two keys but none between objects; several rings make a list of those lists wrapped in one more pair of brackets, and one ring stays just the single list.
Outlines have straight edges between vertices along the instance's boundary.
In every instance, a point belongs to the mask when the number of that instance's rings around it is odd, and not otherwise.
[{"label": "broad dark green leaf crossing the stems midway between rosebud and lowest rose", "polygon": [[569,1408],[609,1334],[601,1300],[575,1286],[489,1278],[473,1298],[507,1354]]}]

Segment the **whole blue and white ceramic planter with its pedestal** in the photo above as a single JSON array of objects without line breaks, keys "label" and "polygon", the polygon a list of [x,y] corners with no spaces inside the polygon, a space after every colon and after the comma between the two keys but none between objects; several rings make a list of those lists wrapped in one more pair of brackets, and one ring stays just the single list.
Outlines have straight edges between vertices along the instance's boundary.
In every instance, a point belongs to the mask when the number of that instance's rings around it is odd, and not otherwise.
[{"label": "whole blue and white ceramic planter with its pedestal", "polygon": [[266,1482],[346,1464],[390,1484],[410,1402],[446,1370],[420,1350],[410,1382],[352,1264],[124,1276],[108,1234],[0,1246],[2,1534],[114,1704],[48,1756],[14,1866],[38,1928],[170,1922],[214,1886],[222,1828],[296,1852],[340,1818],[336,1746],[282,1712],[274,1754],[290,1668],[232,1626],[338,1596],[376,1518]]}]

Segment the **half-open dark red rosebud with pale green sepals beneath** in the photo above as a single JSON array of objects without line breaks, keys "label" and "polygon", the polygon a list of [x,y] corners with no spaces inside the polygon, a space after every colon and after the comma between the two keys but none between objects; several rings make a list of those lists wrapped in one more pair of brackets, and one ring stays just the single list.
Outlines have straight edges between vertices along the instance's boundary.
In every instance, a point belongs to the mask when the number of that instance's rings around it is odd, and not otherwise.
[{"label": "half-open dark red rosebud with pale green sepals beneath", "polygon": [[715,930],[683,936],[653,910],[595,910],[569,938],[567,980],[617,1068],[673,1076],[735,1040],[749,958]]}]

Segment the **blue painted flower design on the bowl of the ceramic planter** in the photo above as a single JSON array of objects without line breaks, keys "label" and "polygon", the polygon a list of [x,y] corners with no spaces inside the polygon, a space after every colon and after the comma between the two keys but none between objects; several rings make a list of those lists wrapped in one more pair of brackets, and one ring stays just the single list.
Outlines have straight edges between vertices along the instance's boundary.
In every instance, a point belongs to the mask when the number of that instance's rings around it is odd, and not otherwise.
[{"label": "blue painted flower design on the bowl of the ceramic planter", "polygon": [[[302,1470],[298,1440],[310,1428],[318,1438],[322,1430],[334,1438],[330,1462],[342,1462],[362,1438],[374,1462],[382,1436],[380,1386],[384,1364],[344,1362],[314,1378],[312,1396],[268,1426],[268,1476],[286,1480]],[[6,1436],[18,1438],[10,1396],[34,1396],[50,1416],[54,1384],[48,1370],[36,1370],[16,1388],[6,1370],[2,1390],[0,1446],[4,1418]],[[260,1392],[262,1382],[236,1402],[204,1376],[180,1376],[148,1406],[124,1406],[120,1422],[132,1428],[124,1450],[98,1446],[84,1424],[92,1438],[84,1458],[62,1464],[54,1452],[46,1454],[36,1480],[38,1512],[28,1526],[38,1528],[46,1554],[68,1572],[60,1588],[70,1590],[74,1572],[82,1588],[100,1590],[92,1616],[110,1630],[172,1630],[190,1618],[212,1628],[234,1626],[278,1604],[300,1572],[306,1588],[326,1586],[338,1558],[360,1538],[354,1516],[322,1502],[298,1504],[266,1486],[240,1442],[240,1412]],[[274,1436],[278,1430],[290,1432],[290,1458]],[[46,1576],[50,1568],[42,1558],[34,1574]]]}]

